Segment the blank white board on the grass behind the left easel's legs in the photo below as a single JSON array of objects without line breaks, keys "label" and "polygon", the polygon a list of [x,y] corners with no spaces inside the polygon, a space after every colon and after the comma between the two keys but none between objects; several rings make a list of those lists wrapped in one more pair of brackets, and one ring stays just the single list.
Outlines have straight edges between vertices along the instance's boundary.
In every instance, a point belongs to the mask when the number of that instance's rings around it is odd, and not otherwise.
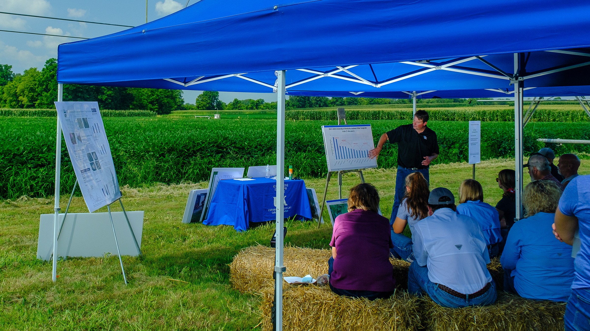
[{"label": "blank white board on the grass behind the left easel's legs", "polygon": [[[138,256],[129,225],[123,211],[113,211],[113,224],[117,233],[121,255]],[[137,244],[142,246],[143,211],[127,211],[129,223]],[[48,261],[53,254],[53,221],[55,214],[42,214],[37,241],[37,259]],[[64,214],[60,214],[60,223]],[[57,241],[57,257],[103,257],[117,255],[113,226],[109,213],[68,213]]]}]

